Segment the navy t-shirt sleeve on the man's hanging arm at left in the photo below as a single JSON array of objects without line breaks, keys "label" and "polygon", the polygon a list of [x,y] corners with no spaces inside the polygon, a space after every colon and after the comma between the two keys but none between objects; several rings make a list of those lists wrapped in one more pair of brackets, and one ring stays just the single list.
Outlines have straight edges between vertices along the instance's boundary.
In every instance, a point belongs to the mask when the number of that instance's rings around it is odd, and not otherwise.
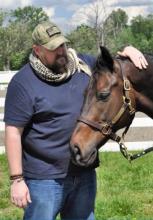
[{"label": "navy t-shirt sleeve on the man's hanging arm at left", "polygon": [[8,85],[5,99],[4,122],[25,127],[30,122],[33,111],[32,99],[28,91],[12,79]]}]

